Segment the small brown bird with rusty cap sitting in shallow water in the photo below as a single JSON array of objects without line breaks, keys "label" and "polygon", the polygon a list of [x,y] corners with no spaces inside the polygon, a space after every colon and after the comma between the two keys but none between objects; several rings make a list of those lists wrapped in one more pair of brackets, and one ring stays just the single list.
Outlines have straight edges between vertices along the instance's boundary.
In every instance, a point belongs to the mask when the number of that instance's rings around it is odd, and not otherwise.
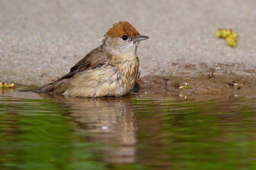
[{"label": "small brown bird with rusty cap sitting in shallow water", "polygon": [[137,46],[149,37],[126,21],[113,24],[104,37],[102,45],[70,68],[70,73],[34,91],[78,97],[129,94],[139,69]]}]

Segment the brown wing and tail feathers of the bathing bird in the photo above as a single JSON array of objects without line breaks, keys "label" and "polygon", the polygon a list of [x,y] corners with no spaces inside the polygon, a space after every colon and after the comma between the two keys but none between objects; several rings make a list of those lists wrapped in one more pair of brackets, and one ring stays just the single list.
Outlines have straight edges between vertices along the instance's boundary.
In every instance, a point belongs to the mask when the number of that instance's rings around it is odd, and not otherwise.
[{"label": "brown wing and tail feathers of the bathing bird", "polygon": [[106,51],[103,51],[102,47],[100,46],[85,55],[82,60],[80,60],[72,68],[70,68],[70,73],[64,75],[63,77],[57,79],[50,84],[45,84],[44,86],[39,87],[34,91],[38,93],[64,93],[68,87],[70,78],[72,78],[74,74],[80,71],[85,71],[86,69],[94,68],[97,65],[108,64],[111,56],[112,55],[110,55]]}]

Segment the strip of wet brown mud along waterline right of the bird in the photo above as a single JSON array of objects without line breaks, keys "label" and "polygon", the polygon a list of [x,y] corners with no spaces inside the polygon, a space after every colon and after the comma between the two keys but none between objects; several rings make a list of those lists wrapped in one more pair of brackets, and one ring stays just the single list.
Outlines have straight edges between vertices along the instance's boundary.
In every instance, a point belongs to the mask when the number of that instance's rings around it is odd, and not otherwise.
[{"label": "strip of wet brown mud along waterline right of the bird", "polygon": [[200,77],[143,77],[139,81],[139,86],[146,93],[164,93],[167,91],[187,94],[205,95],[233,95],[252,94],[256,96],[256,83],[253,76],[241,75],[217,75],[210,73]]}]

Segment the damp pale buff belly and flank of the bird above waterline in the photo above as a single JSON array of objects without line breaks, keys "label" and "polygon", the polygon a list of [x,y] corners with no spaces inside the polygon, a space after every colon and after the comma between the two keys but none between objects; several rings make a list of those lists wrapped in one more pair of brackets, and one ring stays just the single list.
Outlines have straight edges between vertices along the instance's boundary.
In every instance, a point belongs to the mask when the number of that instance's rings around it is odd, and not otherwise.
[{"label": "damp pale buff belly and flank of the bird above waterline", "polygon": [[64,94],[78,97],[126,95],[135,84],[137,72],[138,64],[124,62],[76,73]]}]

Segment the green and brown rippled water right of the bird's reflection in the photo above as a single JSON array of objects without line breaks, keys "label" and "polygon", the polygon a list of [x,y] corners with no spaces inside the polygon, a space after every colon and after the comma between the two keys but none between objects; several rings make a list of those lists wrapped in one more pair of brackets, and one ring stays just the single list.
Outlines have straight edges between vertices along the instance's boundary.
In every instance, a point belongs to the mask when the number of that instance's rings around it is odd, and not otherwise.
[{"label": "green and brown rippled water right of the bird's reflection", "polygon": [[134,99],[134,106],[140,157],[146,166],[172,170],[256,169],[255,99],[195,102],[141,97]]}]

